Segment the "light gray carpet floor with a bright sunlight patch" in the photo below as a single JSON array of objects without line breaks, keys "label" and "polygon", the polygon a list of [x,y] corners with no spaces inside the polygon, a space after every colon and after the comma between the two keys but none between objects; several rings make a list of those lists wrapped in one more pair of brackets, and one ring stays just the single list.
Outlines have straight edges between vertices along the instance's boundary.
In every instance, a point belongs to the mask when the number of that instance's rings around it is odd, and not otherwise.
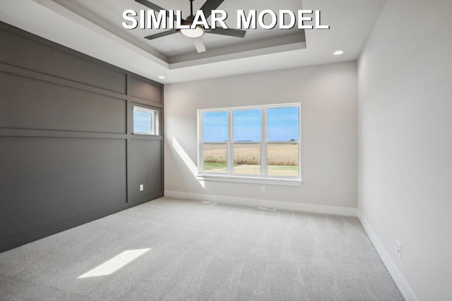
[{"label": "light gray carpet floor with a bright sunlight patch", "polygon": [[0,300],[403,296],[356,218],[163,197],[0,253]]}]

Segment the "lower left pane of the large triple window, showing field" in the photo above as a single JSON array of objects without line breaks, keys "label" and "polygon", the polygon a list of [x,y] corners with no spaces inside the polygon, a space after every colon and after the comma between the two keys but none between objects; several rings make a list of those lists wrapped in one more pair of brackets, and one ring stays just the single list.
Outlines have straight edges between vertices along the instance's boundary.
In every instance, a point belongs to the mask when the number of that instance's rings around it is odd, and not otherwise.
[{"label": "lower left pane of the large triple window, showing field", "polygon": [[227,146],[203,145],[204,173],[227,173]]}]

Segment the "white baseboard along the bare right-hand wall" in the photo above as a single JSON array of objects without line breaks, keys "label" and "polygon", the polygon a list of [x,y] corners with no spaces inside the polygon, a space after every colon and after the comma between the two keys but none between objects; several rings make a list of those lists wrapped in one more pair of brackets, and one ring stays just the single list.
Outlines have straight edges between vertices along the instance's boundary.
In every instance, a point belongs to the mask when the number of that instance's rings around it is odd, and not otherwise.
[{"label": "white baseboard along the bare right-hand wall", "polygon": [[397,268],[396,264],[393,262],[388,252],[386,252],[386,249],[383,247],[383,245],[381,245],[380,240],[376,237],[376,234],[369,226],[369,223],[367,223],[366,219],[364,219],[364,216],[362,216],[359,210],[357,210],[357,216],[364,230],[366,231],[367,236],[369,236],[372,244],[374,245],[376,252],[379,253],[381,260],[383,260],[386,269],[388,269],[389,274],[391,274],[391,276],[393,277],[394,281],[396,282],[396,285],[398,286],[398,289],[400,290],[400,293],[402,293],[405,300],[418,301],[419,299],[410,288],[410,285],[408,285],[408,282],[405,280],[405,277],[403,277],[403,274],[400,273],[400,270]]}]

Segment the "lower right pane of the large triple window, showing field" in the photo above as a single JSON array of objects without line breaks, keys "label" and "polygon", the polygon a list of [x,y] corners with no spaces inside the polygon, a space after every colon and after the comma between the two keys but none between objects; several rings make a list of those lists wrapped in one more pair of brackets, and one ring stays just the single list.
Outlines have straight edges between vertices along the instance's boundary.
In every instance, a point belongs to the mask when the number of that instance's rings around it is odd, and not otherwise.
[{"label": "lower right pane of the large triple window, showing field", "polygon": [[268,145],[268,176],[298,176],[298,145]]}]

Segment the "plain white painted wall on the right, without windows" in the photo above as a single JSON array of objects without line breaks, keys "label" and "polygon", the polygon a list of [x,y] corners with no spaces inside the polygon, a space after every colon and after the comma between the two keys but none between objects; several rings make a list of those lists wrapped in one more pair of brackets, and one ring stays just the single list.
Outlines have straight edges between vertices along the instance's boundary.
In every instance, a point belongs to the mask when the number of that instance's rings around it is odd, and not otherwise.
[{"label": "plain white painted wall on the right, without windows", "polygon": [[451,16],[388,1],[359,59],[359,211],[413,300],[452,300]]}]

